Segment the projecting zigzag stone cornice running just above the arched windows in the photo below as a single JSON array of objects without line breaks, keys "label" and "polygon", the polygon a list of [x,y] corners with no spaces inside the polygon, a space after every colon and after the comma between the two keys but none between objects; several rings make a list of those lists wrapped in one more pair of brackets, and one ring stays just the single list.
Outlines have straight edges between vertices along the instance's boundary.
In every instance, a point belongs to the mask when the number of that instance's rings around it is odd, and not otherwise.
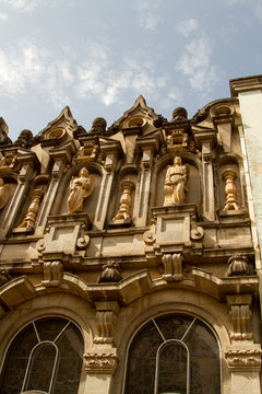
[{"label": "projecting zigzag stone cornice running just above the arched windows", "polygon": [[[191,289],[218,301],[226,302],[227,294],[252,294],[259,289],[259,278],[230,277],[218,278],[211,273],[193,268],[192,277],[179,282],[166,282],[163,278],[152,280],[147,269],[130,275],[117,283],[86,283],[82,278],[63,273],[59,291],[69,292],[86,300],[91,305],[97,301],[117,301],[127,306],[145,294],[171,288]],[[23,302],[52,291],[41,283],[33,285],[26,276],[10,280],[0,288],[0,316]],[[56,289],[57,291],[57,289]]]}]

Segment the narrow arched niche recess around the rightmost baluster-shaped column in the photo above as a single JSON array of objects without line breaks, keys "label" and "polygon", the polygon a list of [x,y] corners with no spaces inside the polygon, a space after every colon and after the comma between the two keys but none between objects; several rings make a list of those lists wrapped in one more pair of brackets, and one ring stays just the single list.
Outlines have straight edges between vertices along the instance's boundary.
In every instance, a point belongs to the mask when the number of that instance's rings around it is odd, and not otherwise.
[{"label": "narrow arched niche recess around the rightmost baluster-shaped column", "polygon": [[[236,198],[238,201],[239,209],[225,209],[226,207],[226,172],[231,171],[234,184],[236,186]],[[225,154],[219,158],[217,163],[217,187],[216,187],[216,200],[217,208],[219,211],[234,211],[234,210],[243,210],[245,209],[245,197],[243,188],[241,184],[241,171],[238,158],[234,154]]]}]

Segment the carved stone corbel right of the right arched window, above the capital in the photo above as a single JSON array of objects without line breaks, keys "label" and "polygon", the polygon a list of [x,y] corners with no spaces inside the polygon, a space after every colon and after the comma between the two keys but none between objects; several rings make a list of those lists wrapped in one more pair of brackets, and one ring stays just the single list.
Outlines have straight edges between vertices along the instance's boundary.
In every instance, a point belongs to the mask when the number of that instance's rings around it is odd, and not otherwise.
[{"label": "carved stone corbel right of the right arched window, above the capital", "polygon": [[230,335],[235,340],[250,340],[253,338],[251,332],[252,320],[252,296],[227,296],[227,305],[231,316],[234,333]]}]

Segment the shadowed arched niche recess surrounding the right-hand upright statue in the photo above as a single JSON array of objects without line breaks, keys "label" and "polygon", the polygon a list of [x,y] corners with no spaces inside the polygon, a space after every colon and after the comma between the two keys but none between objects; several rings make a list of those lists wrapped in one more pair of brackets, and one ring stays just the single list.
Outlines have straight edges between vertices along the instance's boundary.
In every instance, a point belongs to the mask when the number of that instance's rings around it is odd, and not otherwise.
[{"label": "shadowed arched niche recess surrounding the right-hand upright statue", "polygon": [[187,202],[196,204],[201,207],[201,162],[198,157],[189,152],[169,153],[160,158],[153,167],[151,183],[151,207],[163,207],[164,205],[164,185],[168,165],[174,164],[175,157],[182,159],[182,164],[189,166],[189,181],[187,183]]}]

